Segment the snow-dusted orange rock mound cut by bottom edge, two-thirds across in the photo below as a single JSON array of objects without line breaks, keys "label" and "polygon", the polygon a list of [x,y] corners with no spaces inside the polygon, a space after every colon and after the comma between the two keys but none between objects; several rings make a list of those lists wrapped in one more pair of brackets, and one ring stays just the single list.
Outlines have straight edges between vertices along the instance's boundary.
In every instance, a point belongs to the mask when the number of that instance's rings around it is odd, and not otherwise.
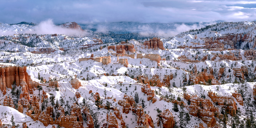
[{"label": "snow-dusted orange rock mound cut by bottom edge, two-thirds across", "polygon": [[[160,113],[160,117],[162,117],[163,128],[173,128],[175,125],[174,117],[172,116],[172,112],[169,109],[165,109],[163,112]],[[160,125],[160,122],[157,123]]]}]

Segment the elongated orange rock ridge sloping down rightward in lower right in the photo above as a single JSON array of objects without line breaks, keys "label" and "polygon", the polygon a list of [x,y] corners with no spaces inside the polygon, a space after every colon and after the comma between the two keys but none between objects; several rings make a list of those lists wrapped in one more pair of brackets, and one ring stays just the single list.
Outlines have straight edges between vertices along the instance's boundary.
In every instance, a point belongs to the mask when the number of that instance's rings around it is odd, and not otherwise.
[{"label": "elongated orange rock ridge sloping down rightward in lower right", "polygon": [[216,96],[213,92],[208,92],[208,96],[212,99],[212,102],[217,103],[218,105],[227,106],[227,111],[230,115],[233,116],[237,110],[237,105],[235,105],[235,101],[232,97],[228,96]]}]

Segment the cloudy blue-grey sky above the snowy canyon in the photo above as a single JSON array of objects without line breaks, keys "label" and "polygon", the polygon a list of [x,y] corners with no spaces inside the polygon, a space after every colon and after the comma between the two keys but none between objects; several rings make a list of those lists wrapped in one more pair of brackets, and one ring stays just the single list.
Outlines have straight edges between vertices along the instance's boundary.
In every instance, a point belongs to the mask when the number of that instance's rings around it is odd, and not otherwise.
[{"label": "cloudy blue-grey sky above the snowy canyon", "polygon": [[0,22],[213,22],[254,21],[247,0],[0,0]]}]

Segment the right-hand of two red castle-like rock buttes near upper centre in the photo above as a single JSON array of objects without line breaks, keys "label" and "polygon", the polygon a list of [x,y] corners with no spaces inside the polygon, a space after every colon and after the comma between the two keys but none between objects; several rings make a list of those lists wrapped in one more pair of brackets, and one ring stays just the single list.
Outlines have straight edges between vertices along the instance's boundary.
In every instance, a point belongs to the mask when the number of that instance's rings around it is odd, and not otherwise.
[{"label": "right-hand of two red castle-like rock buttes near upper centre", "polygon": [[160,39],[158,39],[158,37],[154,37],[153,39],[145,41],[144,46],[145,46],[145,49],[146,48],[148,48],[148,49],[154,48],[154,50],[158,50],[158,48],[159,48],[159,49],[164,50],[163,42]]}]

